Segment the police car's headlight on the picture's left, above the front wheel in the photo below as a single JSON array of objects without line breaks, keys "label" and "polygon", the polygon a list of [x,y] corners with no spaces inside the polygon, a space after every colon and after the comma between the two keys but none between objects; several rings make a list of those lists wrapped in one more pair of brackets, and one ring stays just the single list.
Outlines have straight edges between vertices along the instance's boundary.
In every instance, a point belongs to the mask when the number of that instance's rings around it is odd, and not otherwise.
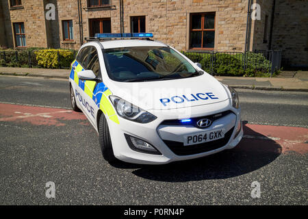
[{"label": "police car's headlight on the picture's left, above the front wheel", "polygon": [[150,123],[157,117],[118,96],[109,96],[119,116],[137,123]]}]

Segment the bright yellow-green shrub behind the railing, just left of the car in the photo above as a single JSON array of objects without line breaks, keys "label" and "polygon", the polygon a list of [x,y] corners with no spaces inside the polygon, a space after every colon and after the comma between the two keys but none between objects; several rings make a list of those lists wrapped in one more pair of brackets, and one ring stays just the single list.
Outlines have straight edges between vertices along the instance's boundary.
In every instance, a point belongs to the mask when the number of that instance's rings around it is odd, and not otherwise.
[{"label": "bright yellow-green shrub behind the railing, just left of the car", "polygon": [[34,53],[38,65],[44,68],[57,68],[58,66],[68,68],[75,59],[74,51],[68,49],[42,49]]}]

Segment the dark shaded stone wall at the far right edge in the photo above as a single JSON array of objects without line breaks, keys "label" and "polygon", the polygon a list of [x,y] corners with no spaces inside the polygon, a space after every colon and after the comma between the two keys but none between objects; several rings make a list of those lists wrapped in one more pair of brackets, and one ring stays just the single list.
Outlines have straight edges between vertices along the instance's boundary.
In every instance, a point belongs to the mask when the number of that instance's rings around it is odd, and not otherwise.
[{"label": "dark shaded stone wall at the far right edge", "polygon": [[308,66],[308,3],[276,0],[272,49],[282,50],[284,66]]}]

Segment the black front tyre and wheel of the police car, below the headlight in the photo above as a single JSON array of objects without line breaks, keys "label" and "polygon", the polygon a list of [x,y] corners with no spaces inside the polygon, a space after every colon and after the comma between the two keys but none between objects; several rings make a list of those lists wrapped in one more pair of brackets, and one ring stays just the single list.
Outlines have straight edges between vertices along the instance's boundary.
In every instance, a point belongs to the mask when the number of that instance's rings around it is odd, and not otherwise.
[{"label": "black front tyre and wheel of the police car, below the headlight", "polygon": [[107,120],[104,114],[101,114],[101,117],[99,118],[99,145],[101,146],[101,153],[107,162],[113,162],[116,160],[116,157],[114,157],[114,151],[112,150],[112,142]]}]

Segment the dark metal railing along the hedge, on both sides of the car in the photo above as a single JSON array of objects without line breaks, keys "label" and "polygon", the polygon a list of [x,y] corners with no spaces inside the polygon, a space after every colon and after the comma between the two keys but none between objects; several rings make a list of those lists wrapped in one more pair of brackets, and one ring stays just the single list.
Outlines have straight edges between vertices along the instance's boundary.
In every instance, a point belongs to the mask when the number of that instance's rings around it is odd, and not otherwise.
[{"label": "dark metal railing along the hedge, on both sides of the car", "polygon": [[[37,57],[40,50],[5,50],[0,51],[0,66],[70,68],[77,51],[73,55],[64,56],[60,51],[50,51],[44,62],[53,62],[49,66],[42,64],[42,57]],[[49,53],[49,51],[47,51]],[[211,75],[247,75],[254,72],[270,74],[281,68],[281,51],[253,52],[217,52],[187,51],[182,52],[193,62],[202,64],[204,70]],[[40,61],[40,62],[39,62]]]}]

